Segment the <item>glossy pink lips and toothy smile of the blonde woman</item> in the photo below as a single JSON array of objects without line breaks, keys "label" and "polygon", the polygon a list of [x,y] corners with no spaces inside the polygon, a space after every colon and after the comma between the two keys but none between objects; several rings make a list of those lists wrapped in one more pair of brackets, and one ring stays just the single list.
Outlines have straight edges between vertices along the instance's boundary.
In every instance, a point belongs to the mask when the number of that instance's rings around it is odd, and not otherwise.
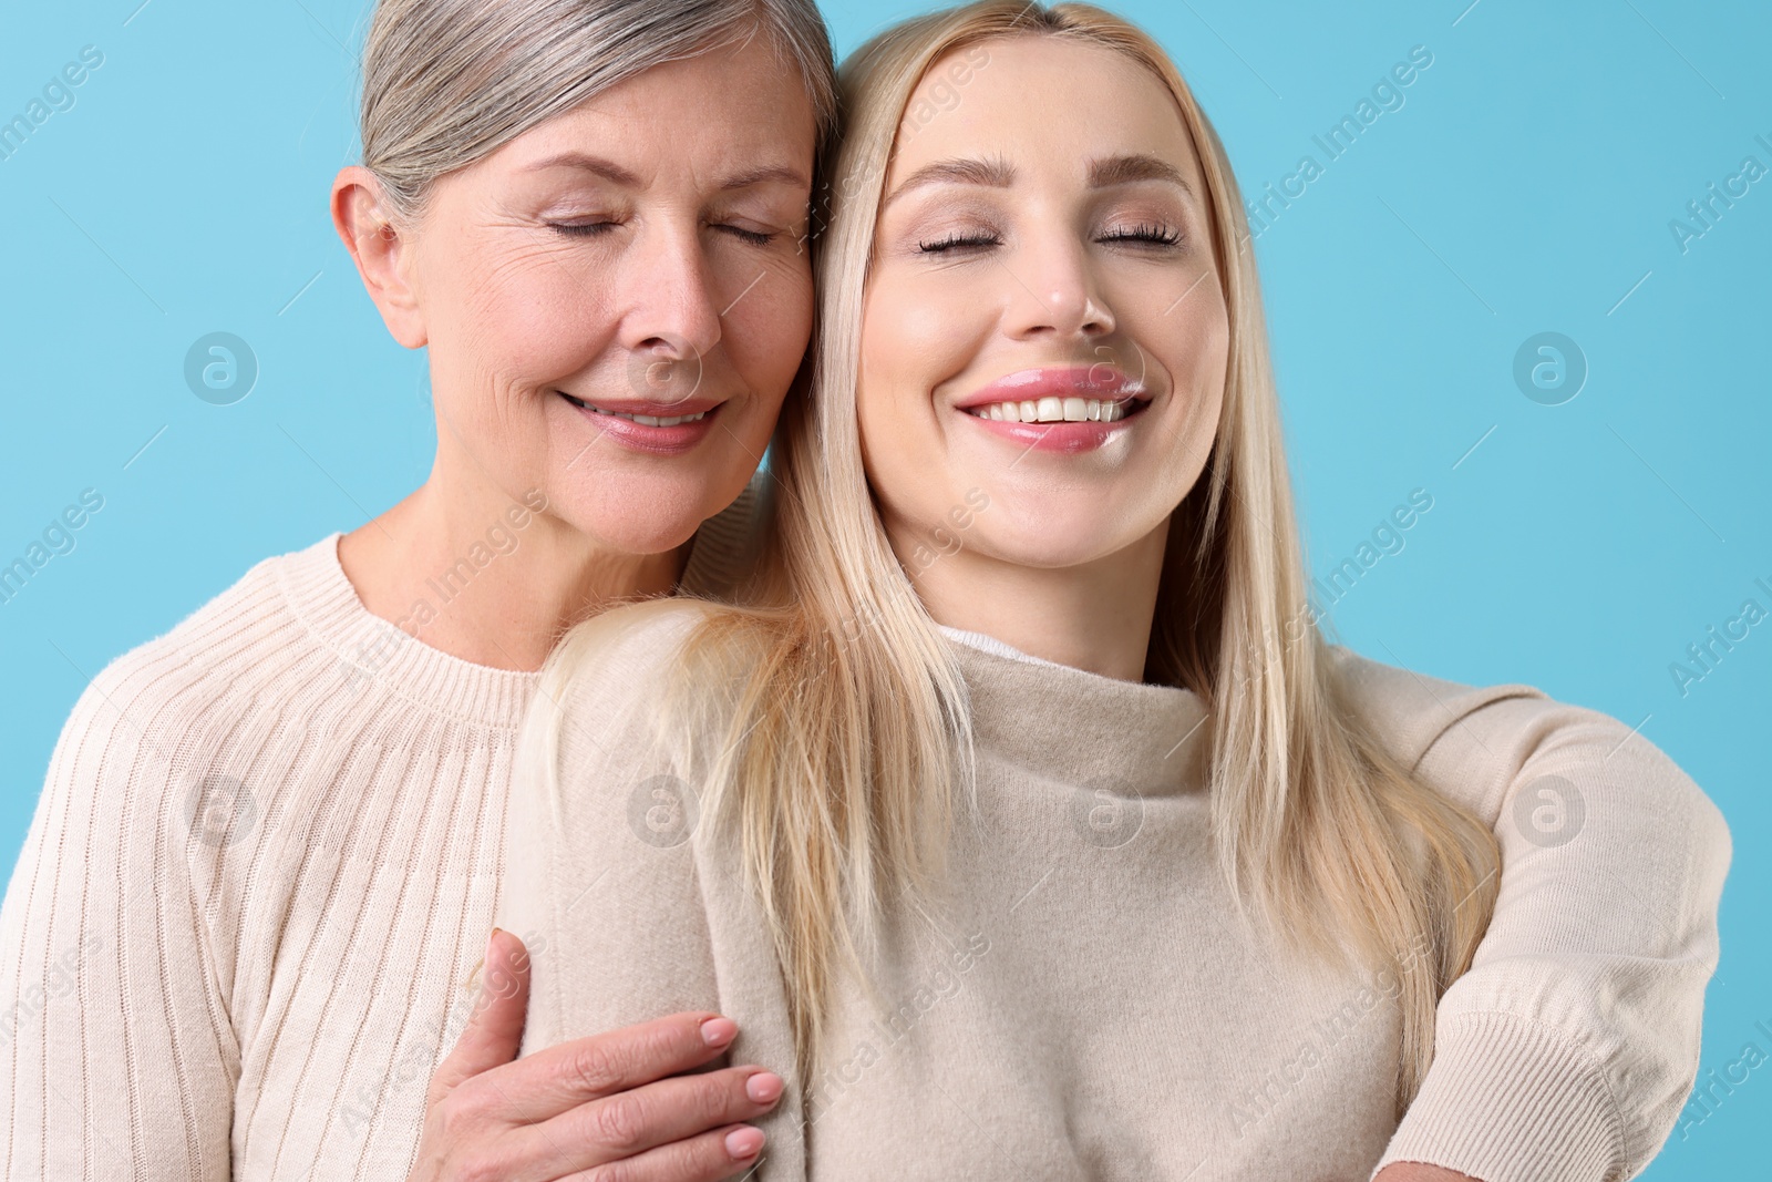
[{"label": "glossy pink lips and toothy smile of the blonde woman", "polygon": [[953,406],[1024,448],[1076,454],[1125,431],[1150,393],[1113,365],[1053,367],[1006,374]]}]

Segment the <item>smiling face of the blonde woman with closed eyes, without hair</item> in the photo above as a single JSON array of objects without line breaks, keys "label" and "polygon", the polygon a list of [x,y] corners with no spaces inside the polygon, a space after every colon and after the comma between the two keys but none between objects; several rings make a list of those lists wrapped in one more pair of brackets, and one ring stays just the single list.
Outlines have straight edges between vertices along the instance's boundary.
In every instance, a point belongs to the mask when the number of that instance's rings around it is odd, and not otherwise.
[{"label": "smiling face of the blonde woman with closed eyes, without hair", "polygon": [[1069,567],[1164,528],[1224,392],[1205,191],[1175,99],[1120,53],[1005,37],[929,71],[886,175],[858,386],[900,560],[959,535]]}]

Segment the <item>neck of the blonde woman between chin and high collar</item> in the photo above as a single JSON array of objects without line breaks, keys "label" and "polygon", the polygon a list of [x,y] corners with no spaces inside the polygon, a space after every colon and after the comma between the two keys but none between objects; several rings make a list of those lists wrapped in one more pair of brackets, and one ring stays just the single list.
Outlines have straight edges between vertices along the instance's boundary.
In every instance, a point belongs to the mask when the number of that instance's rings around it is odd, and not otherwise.
[{"label": "neck of the blonde woman between chin and high collar", "polygon": [[[1125,549],[1074,567],[1024,567],[960,549],[929,564],[914,585],[937,624],[1102,677],[1143,680],[1168,532],[1164,521]],[[893,549],[900,562],[913,553],[897,537]]]}]

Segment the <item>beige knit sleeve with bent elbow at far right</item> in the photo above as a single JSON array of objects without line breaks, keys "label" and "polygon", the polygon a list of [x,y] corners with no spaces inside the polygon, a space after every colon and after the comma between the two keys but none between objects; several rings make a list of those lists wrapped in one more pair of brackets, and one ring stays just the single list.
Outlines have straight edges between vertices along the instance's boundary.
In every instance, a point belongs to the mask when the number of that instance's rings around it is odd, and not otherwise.
[{"label": "beige knit sleeve with bent elbow at far right", "polygon": [[1636,1177],[1698,1072],[1731,858],[1722,813],[1614,718],[1529,686],[1407,677],[1439,719],[1416,771],[1490,822],[1503,872],[1471,969],[1441,998],[1432,1067],[1377,1170]]}]

